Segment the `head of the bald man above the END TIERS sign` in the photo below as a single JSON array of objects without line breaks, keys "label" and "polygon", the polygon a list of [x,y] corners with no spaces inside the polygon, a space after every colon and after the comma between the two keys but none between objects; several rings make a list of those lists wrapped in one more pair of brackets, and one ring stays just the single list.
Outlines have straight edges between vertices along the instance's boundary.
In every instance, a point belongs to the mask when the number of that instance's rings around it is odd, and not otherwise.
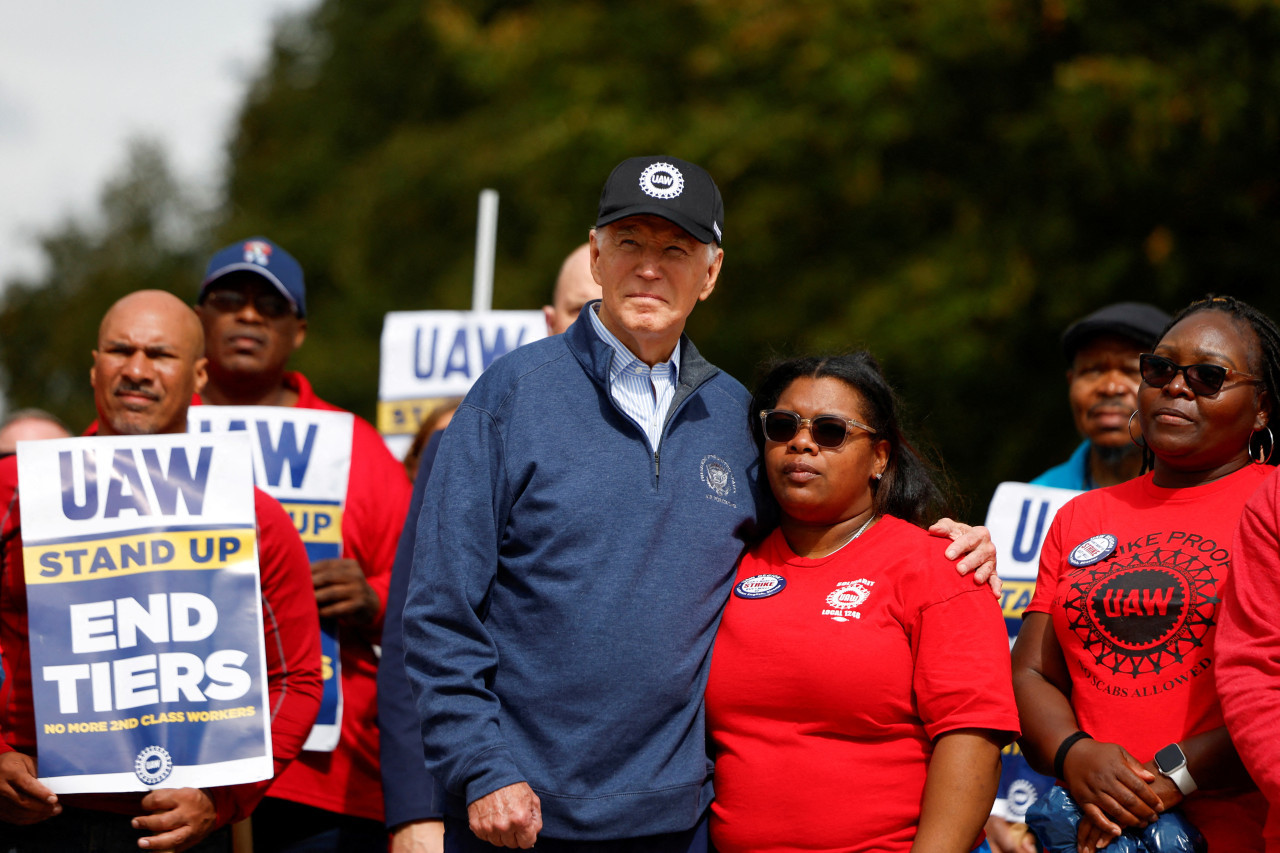
[{"label": "head of the bald man above the END TIERS sign", "polygon": [[113,305],[90,370],[99,432],[186,432],[191,396],[205,387],[204,350],[200,320],[172,293],[140,291]]}]

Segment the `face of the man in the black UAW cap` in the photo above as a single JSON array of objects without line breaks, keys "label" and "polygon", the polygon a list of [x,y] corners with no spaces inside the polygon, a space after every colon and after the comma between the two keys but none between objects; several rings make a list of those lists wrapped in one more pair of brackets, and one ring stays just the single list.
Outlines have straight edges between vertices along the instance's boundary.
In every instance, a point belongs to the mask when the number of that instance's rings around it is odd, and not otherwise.
[{"label": "face of the man in the black UAW cap", "polygon": [[645,364],[667,360],[694,306],[716,289],[724,251],[652,215],[596,228],[590,246],[605,328]]}]

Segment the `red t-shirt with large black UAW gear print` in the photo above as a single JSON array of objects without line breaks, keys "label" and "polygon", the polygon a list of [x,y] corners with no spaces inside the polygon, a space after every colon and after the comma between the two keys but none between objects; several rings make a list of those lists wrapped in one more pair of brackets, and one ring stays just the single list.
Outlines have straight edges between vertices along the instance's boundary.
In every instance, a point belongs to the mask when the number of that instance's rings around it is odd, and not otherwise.
[{"label": "red t-shirt with large black UAW gear print", "polygon": [[[1270,471],[1247,465],[1183,489],[1148,474],[1059,510],[1027,612],[1053,619],[1080,729],[1147,762],[1222,725],[1217,606],[1244,502]],[[1100,537],[1115,538],[1114,552]],[[1183,811],[1211,850],[1262,849],[1266,804],[1256,790],[1198,792]]]}]

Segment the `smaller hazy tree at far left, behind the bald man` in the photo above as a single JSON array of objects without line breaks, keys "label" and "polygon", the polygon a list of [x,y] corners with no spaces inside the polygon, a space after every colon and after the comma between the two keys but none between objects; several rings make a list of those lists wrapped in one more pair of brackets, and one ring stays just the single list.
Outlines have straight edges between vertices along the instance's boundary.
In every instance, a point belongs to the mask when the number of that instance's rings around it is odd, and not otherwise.
[{"label": "smaller hazy tree at far left, behind the bald man", "polygon": [[88,371],[102,314],[125,293],[193,295],[204,269],[206,215],[152,142],[131,146],[92,222],[68,220],[41,238],[47,272],[8,283],[0,365],[9,409],[38,406],[73,432],[93,420]]}]

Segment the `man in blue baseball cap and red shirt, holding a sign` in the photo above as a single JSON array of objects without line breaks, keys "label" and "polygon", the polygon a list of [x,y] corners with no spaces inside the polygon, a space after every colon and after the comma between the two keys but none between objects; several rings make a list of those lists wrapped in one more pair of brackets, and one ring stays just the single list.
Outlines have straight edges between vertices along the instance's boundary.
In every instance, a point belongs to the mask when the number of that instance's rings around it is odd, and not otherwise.
[{"label": "man in blue baseball cap and red shirt, holding a sign", "polygon": [[[196,311],[205,329],[206,405],[338,410],[294,370],[307,334],[302,266],[265,237],[223,248],[209,263]],[[255,848],[387,848],[378,765],[374,646],[410,483],[374,426],[355,418],[342,515],[342,557],[311,565],[323,619],[338,622],[342,726],[333,752],[303,752],[253,815]]]}]

